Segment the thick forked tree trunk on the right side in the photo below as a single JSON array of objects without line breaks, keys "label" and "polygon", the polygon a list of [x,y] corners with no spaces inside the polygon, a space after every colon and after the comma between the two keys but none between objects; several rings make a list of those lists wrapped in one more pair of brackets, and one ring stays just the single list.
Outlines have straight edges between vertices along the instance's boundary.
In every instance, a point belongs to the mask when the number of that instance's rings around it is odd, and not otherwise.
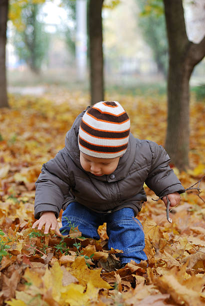
[{"label": "thick forked tree trunk on the right side", "polygon": [[205,55],[205,38],[198,44],[188,40],[181,0],[163,2],[169,45],[165,149],[171,162],[185,170],[189,151],[189,79],[194,66]]}]

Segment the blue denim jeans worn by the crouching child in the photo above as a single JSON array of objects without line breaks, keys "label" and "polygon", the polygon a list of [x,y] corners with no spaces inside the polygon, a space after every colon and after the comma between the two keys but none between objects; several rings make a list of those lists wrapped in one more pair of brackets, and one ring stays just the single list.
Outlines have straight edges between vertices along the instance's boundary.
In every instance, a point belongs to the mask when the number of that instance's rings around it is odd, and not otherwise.
[{"label": "blue denim jeans worn by the crouching child", "polygon": [[120,249],[123,253],[115,254],[120,259],[120,264],[134,260],[137,263],[146,260],[143,251],[144,233],[142,225],[134,218],[131,208],[121,208],[117,211],[97,213],[85,206],[71,202],[62,213],[62,227],[60,232],[68,235],[70,227],[78,225],[83,237],[99,240],[97,229],[106,222],[106,231],[109,237],[108,248]]}]

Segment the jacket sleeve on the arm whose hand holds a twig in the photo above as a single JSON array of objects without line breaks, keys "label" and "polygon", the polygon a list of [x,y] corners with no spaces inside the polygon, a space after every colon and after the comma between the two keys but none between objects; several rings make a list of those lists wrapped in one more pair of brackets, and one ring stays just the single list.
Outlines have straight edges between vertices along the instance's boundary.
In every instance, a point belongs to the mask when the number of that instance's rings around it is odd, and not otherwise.
[{"label": "jacket sleeve on the arm whose hand holds a twig", "polygon": [[184,192],[183,186],[169,167],[170,157],[164,148],[153,141],[147,142],[151,150],[152,161],[145,184],[159,197],[176,191]]}]

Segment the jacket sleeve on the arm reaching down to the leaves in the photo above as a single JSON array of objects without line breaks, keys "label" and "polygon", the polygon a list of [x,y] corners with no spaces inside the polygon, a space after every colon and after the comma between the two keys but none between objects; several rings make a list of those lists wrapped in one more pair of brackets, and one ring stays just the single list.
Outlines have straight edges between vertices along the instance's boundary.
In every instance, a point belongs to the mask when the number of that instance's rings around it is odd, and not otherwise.
[{"label": "jacket sleeve on the arm reaching down to the leaves", "polygon": [[39,219],[41,211],[53,211],[57,218],[69,190],[67,166],[60,151],[42,165],[35,186],[34,217]]}]

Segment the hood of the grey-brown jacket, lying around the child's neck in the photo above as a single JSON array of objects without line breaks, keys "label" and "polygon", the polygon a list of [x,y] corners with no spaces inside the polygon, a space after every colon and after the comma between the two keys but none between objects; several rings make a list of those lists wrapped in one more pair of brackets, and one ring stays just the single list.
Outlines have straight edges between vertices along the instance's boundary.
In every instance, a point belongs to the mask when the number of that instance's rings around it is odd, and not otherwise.
[{"label": "hood of the grey-brown jacket, lying around the child's neck", "polygon": [[[81,118],[83,114],[85,113],[85,111],[88,109],[88,107],[76,117],[71,128],[67,131],[66,136],[65,136],[65,148],[67,150],[67,153],[69,157],[72,159],[72,161],[81,170],[83,170],[83,168],[81,167],[81,164],[79,161],[79,147],[78,147],[77,137],[78,137],[78,130],[79,130]],[[126,152],[119,158],[118,165],[116,169],[114,170],[114,172],[112,172],[112,174],[114,174],[115,176],[115,179],[112,179],[112,181],[122,179],[127,175],[130,169],[130,166],[134,161],[135,153],[136,153],[136,139],[133,137],[131,133],[129,133],[129,140],[128,140]],[[95,176],[92,173],[89,173],[89,172],[86,172],[86,173],[101,181],[107,181],[108,176],[110,175],[109,174],[109,175]]]}]

